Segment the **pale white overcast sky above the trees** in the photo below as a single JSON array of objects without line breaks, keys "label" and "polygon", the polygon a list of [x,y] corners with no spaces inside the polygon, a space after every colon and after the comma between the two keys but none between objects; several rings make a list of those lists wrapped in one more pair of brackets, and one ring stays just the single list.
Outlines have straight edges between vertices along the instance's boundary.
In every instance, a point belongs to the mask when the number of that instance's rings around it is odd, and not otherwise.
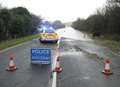
[{"label": "pale white overcast sky above the trees", "polygon": [[87,18],[105,4],[106,0],[0,0],[2,6],[26,7],[31,13],[43,18],[62,22]]}]

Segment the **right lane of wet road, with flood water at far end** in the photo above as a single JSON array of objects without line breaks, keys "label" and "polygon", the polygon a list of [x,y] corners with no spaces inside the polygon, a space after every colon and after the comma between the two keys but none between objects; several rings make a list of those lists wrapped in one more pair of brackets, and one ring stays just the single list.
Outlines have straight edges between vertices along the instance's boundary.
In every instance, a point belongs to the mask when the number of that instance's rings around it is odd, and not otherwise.
[{"label": "right lane of wet road, with flood water at far end", "polygon": [[[64,35],[68,33],[64,29],[59,32],[64,32]],[[57,87],[119,87],[120,56],[94,43],[81,32],[69,29],[69,33],[73,38],[69,34],[65,37],[61,34],[64,37],[60,45],[63,72],[58,75]],[[111,76],[101,73],[105,58],[111,60]]]}]

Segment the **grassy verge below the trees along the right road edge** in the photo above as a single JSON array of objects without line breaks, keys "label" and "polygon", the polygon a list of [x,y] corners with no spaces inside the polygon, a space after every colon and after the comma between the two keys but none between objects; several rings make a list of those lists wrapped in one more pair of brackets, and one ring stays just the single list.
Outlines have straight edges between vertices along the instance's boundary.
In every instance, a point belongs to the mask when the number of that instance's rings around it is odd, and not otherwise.
[{"label": "grassy verge below the trees along the right road edge", "polygon": [[[87,35],[91,38],[92,34],[87,33]],[[117,54],[120,54],[120,36],[118,35],[105,35],[104,37],[95,37],[93,38],[97,44],[106,46],[110,48]]]}]

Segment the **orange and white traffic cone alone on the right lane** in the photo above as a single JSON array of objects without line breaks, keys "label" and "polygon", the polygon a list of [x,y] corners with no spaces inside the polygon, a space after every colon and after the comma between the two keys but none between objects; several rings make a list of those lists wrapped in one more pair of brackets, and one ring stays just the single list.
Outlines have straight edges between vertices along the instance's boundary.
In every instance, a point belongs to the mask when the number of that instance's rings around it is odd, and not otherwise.
[{"label": "orange and white traffic cone alone on the right lane", "polygon": [[105,68],[102,71],[102,73],[104,75],[112,75],[113,74],[112,71],[111,71],[111,69],[110,69],[110,60],[109,59],[105,60]]}]

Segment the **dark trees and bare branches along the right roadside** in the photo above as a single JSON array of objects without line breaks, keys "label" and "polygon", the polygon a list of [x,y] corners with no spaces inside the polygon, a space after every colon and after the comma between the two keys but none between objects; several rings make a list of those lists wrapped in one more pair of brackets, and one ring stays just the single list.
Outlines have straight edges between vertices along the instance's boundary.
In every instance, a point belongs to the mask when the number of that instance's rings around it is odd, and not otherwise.
[{"label": "dark trees and bare branches along the right roadside", "polygon": [[120,40],[120,0],[107,0],[104,8],[86,20],[78,18],[72,27],[94,35],[113,35]]}]

